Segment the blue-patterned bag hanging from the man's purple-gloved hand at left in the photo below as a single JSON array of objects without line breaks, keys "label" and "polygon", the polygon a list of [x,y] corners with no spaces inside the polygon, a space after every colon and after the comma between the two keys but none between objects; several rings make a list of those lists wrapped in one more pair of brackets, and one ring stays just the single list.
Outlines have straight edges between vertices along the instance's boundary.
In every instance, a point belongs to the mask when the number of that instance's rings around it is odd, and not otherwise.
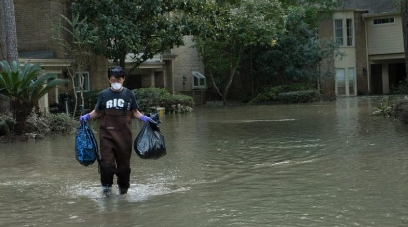
[{"label": "blue-patterned bag hanging from the man's purple-gloved hand at left", "polygon": [[86,122],[81,122],[75,134],[75,158],[83,166],[91,165],[95,160],[99,162],[98,144]]}]

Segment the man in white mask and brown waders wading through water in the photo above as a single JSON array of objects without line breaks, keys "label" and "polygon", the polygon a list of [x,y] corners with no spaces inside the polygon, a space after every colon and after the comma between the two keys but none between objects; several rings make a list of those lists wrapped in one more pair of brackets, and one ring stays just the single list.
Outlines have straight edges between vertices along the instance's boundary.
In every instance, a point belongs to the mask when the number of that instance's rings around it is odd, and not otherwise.
[{"label": "man in white mask and brown waders wading through water", "polygon": [[100,117],[100,183],[104,194],[111,193],[113,175],[117,175],[119,193],[125,194],[130,187],[130,158],[132,154],[132,117],[148,122],[150,117],[144,116],[137,109],[135,94],[123,87],[124,70],[112,67],[108,71],[111,84],[98,94],[95,109],[80,117],[80,121],[88,121]]}]

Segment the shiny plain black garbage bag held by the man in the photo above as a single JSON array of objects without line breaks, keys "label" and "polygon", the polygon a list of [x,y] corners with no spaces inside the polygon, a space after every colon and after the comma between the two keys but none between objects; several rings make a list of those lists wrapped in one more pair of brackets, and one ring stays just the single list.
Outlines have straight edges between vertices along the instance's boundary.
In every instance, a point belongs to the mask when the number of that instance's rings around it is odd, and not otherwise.
[{"label": "shiny plain black garbage bag held by the man", "polygon": [[133,147],[141,159],[159,159],[166,155],[164,136],[159,129],[160,120],[157,113],[150,113],[149,117],[154,120],[144,123]]}]

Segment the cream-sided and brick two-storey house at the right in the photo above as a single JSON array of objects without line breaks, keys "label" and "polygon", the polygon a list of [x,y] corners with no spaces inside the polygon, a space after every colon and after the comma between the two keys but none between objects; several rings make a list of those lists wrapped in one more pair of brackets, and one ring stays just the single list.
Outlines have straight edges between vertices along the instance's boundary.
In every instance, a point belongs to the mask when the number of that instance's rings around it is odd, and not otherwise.
[{"label": "cream-sided and brick two-storey house at the right", "polygon": [[393,0],[342,0],[329,20],[320,23],[319,35],[334,38],[342,58],[334,69],[338,96],[388,94],[406,79],[401,14]]}]

